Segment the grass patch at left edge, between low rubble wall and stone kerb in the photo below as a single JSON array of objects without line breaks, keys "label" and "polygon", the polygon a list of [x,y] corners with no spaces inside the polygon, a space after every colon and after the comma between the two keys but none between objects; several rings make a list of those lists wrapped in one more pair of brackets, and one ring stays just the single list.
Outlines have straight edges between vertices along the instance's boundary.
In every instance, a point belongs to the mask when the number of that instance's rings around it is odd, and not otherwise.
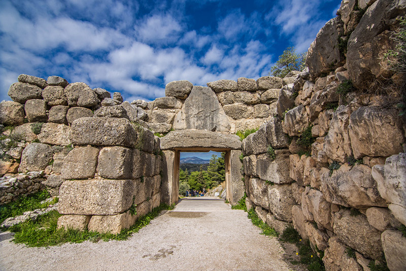
[{"label": "grass patch at left edge, between low rubble wall and stone kerb", "polygon": [[47,190],[43,190],[27,196],[21,196],[15,201],[0,206],[0,224],[9,217],[20,216],[26,211],[46,208],[50,204],[55,204],[56,199],[53,200],[53,202],[46,202],[44,204],[41,204],[41,201],[49,197],[49,192]]}]

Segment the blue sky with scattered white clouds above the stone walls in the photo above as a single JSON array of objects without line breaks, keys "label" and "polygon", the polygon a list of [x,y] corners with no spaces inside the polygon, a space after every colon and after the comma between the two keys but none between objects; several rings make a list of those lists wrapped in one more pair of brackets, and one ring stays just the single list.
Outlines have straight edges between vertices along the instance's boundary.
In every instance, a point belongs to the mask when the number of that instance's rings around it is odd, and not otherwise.
[{"label": "blue sky with scattered white clouds above the stone walls", "polygon": [[0,0],[0,100],[19,74],[164,96],[189,80],[257,79],[305,52],[340,0]]}]

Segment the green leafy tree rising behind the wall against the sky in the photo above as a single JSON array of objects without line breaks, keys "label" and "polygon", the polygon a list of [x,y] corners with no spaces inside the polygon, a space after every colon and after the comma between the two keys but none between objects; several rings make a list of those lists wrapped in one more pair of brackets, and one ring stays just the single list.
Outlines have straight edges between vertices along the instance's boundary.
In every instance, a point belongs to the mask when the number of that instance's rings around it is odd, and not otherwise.
[{"label": "green leafy tree rising behind the wall against the sky", "polygon": [[306,54],[297,54],[293,47],[286,48],[283,54],[279,56],[275,65],[270,68],[270,73],[273,76],[284,78],[291,71],[301,71],[304,68]]}]

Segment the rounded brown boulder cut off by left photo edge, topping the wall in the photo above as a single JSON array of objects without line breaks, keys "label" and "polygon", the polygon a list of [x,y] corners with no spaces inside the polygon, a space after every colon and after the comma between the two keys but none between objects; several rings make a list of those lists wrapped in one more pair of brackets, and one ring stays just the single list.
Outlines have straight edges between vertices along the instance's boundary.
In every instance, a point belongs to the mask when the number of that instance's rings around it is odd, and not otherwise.
[{"label": "rounded brown boulder cut off by left photo edge, topping the wall", "polygon": [[24,123],[24,106],[16,101],[5,100],[0,103],[0,123],[4,125],[21,125]]}]

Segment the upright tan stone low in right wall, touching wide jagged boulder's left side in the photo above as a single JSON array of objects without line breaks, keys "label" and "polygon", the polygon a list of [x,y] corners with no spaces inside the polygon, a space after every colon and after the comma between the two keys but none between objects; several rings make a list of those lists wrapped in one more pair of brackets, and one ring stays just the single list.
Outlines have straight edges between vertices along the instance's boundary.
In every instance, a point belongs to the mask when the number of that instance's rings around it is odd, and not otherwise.
[{"label": "upright tan stone low in right wall, touching wide jagged boulder's left side", "polygon": [[333,230],[333,221],[331,218],[331,204],[324,199],[323,193],[306,187],[306,190],[301,195],[302,211],[306,219],[315,221],[320,227],[328,230]]}]

